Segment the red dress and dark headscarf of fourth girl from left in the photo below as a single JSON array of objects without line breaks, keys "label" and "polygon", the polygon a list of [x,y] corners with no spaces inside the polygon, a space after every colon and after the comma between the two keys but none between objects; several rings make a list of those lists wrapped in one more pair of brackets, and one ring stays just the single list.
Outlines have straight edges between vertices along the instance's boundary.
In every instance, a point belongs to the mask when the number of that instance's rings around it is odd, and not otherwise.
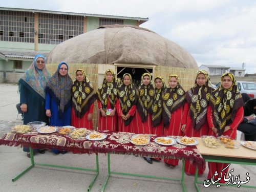
[{"label": "red dress and dark headscarf of fourth girl from left", "polygon": [[[150,83],[145,86],[142,82],[144,76],[150,77]],[[144,73],[141,76],[141,83],[138,90],[138,105],[135,113],[134,133],[153,134],[152,131],[152,104],[155,89],[152,84],[151,75]]]}]

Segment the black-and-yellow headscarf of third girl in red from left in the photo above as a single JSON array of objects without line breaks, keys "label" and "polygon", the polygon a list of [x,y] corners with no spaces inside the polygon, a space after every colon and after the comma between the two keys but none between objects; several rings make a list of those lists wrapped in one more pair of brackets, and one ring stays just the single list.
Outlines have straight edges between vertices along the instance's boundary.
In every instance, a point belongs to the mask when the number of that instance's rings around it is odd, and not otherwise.
[{"label": "black-and-yellow headscarf of third girl in red from left", "polygon": [[[129,73],[125,73],[124,76],[128,75],[131,79],[131,82],[129,86],[125,86],[124,83],[118,88],[117,91],[117,97],[119,99],[121,109],[124,115],[129,113],[130,109],[133,105],[136,105],[138,102],[138,95],[136,94],[136,88],[133,84],[132,76]],[[124,121],[124,125],[129,125],[130,122],[133,120],[133,116],[131,116],[129,119]]]}]

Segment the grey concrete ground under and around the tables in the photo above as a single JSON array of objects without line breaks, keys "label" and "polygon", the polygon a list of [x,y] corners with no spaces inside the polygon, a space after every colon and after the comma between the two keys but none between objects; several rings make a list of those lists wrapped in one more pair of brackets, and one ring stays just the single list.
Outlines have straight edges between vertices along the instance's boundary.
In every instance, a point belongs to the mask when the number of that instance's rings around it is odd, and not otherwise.
[{"label": "grey concrete ground under and around the tables", "polygon": [[[18,115],[16,103],[19,102],[16,84],[0,84],[0,137],[10,131],[10,127],[23,123]],[[256,153],[256,151],[252,151]],[[65,155],[54,155],[49,151],[45,154],[36,154],[35,161],[49,164],[61,164],[84,168],[95,168],[95,155],[77,155],[67,153]],[[20,147],[0,145],[0,187],[1,191],[86,191],[91,180],[92,172],[81,170],[61,169],[55,167],[43,167],[36,165],[17,181],[12,179],[30,165],[30,159]],[[181,177],[181,162],[179,166],[170,168],[163,161],[148,164],[141,157],[133,155],[111,155],[111,168],[113,172],[128,172],[145,175],[164,177]],[[240,175],[240,180],[245,180],[249,173],[249,185],[256,183],[256,169],[249,165],[231,164],[234,168],[233,175]],[[207,177],[208,167],[200,180]],[[101,191],[101,187],[108,174],[107,156],[99,155],[99,176],[91,191]],[[196,191],[194,176],[185,175],[185,186],[187,191]],[[255,191],[255,189],[221,186],[210,186],[205,188],[200,184],[201,191]],[[182,191],[179,181],[167,181],[158,179],[147,179],[129,176],[112,175],[105,191]]]}]

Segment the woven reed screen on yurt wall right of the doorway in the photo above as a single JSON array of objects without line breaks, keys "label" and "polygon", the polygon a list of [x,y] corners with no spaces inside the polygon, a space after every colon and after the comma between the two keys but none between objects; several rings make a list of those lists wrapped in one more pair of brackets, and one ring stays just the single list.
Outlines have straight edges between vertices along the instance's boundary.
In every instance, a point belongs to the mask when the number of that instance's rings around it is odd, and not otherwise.
[{"label": "woven reed screen on yurt wall right of the doorway", "polygon": [[155,77],[162,76],[166,86],[169,86],[168,79],[170,74],[177,74],[180,84],[185,91],[194,86],[198,69],[184,69],[177,67],[156,66]]}]

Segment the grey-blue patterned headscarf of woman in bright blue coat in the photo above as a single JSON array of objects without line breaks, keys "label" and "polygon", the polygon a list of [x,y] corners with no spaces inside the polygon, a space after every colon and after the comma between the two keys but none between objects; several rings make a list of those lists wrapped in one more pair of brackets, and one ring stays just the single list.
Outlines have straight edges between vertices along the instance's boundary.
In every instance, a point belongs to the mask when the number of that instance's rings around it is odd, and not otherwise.
[{"label": "grey-blue patterned headscarf of woman in bright blue coat", "polygon": [[60,66],[63,64],[65,64],[68,68],[68,64],[66,62],[60,62],[58,65],[58,70],[53,74],[46,86],[46,92],[49,93],[59,105],[58,114],[60,118],[71,104],[71,88],[73,84],[73,81],[68,73],[65,76],[61,76],[59,74]]}]

